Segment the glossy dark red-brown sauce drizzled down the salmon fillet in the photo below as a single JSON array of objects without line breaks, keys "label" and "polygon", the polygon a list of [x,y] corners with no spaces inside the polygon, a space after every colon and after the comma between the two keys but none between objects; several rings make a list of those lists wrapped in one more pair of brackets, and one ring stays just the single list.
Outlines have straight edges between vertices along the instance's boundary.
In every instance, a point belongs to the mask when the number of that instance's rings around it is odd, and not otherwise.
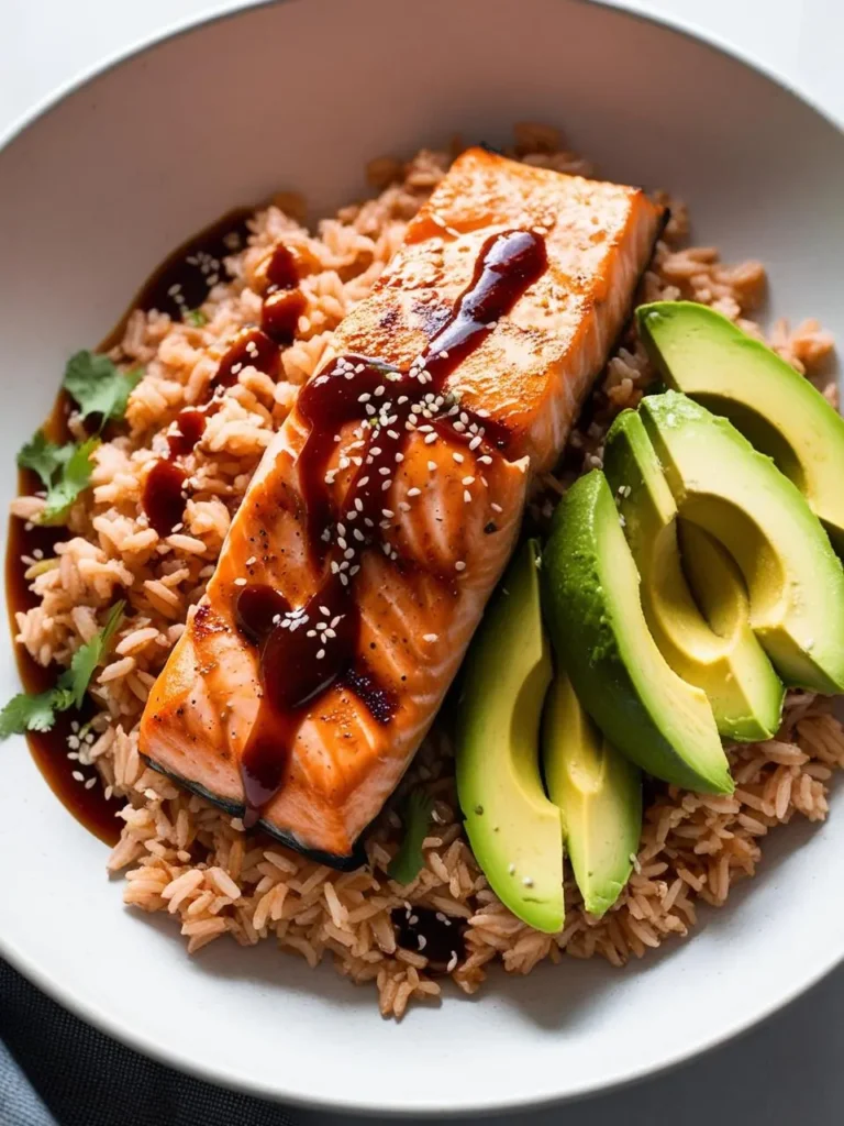
[{"label": "glossy dark red-brown sauce drizzled down the salmon fillet", "polygon": [[[429,444],[439,435],[465,441],[473,450],[483,444],[487,457],[506,448],[506,430],[461,410],[445,384],[546,263],[545,241],[535,232],[492,235],[448,321],[408,370],[363,356],[341,356],[300,391],[297,409],[311,429],[298,476],[308,551],[324,578],[295,609],[270,587],[246,586],[236,595],[236,620],[260,650],[262,682],[258,720],[241,761],[246,824],[257,821],[282,785],[305,712],[332,685],[340,682],[359,695],[381,723],[395,714],[397,700],[356,660],[360,613],[353,588],[361,553],[390,525],[386,498],[411,431],[423,431]],[[350,423],[359,425],[360,465],[342,510],[335,511],[329,462],[335,437]],[[404,565],[389,544],[381,547]],[[454,583],[457,575],[443,579]]]}]

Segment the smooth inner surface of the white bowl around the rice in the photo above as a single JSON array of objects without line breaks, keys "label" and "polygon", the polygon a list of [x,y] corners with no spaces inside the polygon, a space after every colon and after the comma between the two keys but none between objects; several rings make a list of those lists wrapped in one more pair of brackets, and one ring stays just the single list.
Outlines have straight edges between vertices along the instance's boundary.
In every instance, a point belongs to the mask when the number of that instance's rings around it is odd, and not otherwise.
[{"label": "smooth inner surface of the white bowl around the rice", "polygon": [[[111,327],[188,234],[280,187],[314,215],[363,190],[363,161],[564,126],[610,177],[693,205],[698,238],[765,260],[773,313],[844,334],[844,140],[794,95],[664,26],[573,0],[308,0],[253,8],[120,62],[0,153],[0,413],[12,453],[65,357]],[[17,690],[10,646],[0,694]],[[188,958],[170,919],[120,905],[106,849],[53,797],[23,739],[0,749],[0,951],[87,1020],[232,1087],[368,1111],[568,1098],[700,1052],[844,956],[830,886],[844,816],[765,842],[756,879],[685,942],[494,974],[399,1026],[371,991],[273,949]]]}]

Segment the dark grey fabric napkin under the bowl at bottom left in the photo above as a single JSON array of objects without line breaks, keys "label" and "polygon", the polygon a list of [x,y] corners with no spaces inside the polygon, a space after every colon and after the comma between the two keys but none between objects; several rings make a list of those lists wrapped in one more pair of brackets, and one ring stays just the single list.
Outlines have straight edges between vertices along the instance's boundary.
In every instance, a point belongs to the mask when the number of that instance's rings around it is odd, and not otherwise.
[{"label": "dark grey fabric napkin under the bowl at bottom left", "polygon": [[0,1126],[294,1126],[71,1016],[0,960]]}]

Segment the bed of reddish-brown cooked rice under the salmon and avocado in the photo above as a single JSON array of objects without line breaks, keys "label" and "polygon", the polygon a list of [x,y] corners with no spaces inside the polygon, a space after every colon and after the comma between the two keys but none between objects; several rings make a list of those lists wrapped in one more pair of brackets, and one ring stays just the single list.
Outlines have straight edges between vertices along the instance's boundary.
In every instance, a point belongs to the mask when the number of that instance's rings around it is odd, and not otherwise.
[{"label": "bed of reddish-brown cooked rice under the salmon and avocado", "polygon": [[[548,126],[518,126],[514,154],[531,164],[590,172]],[[289,194],[277,198],[251,221],[249,245],[227,260],[231,280],[210,292],[204,327],[155,312],[132,314],[113,356],[143,363],[146,375],[132,394],[126,432],[97,452],[93,488],[72,510],[70,538],[56,548],[56,560],[32,568],[39,602],[17,620],[18,641],[36,661],[66,664],[97,629],[98,609],[125,597],[134,610],[92,686],[100,707],[93,740],[81,741],[74,752],[82,784],[96,776],[109,793],[126,798],[123,833],[109,860],[113,872],[125,870],[125,902],[177,917],[191,954],[226,933],[243,946],[275,938],[311,966],[330,954],[352,981],[375,982],[381,1012],[395,1017],[412,998],[441,990],[440,981],[427,975],[423,955],[396,947],[389,912],[405,901],[465,920],[466,957],[450,976],[466,993],[478,989],[492,962],[526,974],[565,953],[601,955],[620,966],[668,936],[685,936],[701,902],[725,903],[733,882],[754,874],[771,828],[794,814],[823,820],[829,778],[844,765],[844,738],[830,701],[790,692],[775,740],[729,749],[735,795],[662,792],[646,810],[635,872],[619,902],[604,919],[593,919],[569,879],[566,926],[556,936],[521,923],[487,886],[461,832],[451,752],[441,732],[429,738],[412,770],[436,807],[425,867],[410,887],[385,873],[399,835],[394,814],[381,817],[368,841],[369,866],[339,874],[244,832],[237,819],[145,768],[137,749],[144,700],[213,572],[250,475],[297,387],[331,348],[334,328],[367,295],[449,160],[422,151],[407,163],[372,161],[369,173],[380,194],[323,220],[315,234],[291,217],[302,213],[300,200]],[[685,208],[673,202],[640,300],[700,301],[761,334],[751,318],[765,288],[762,265],[726,265],[713,248],[686,245],[688,233]],[[203,400],[226,339],[257,319],[260,267],[280,239],[313,265],[302,285],[307,307],[298,339],[284,354],[279,382],[246,367],[226,392],[194,455],[183,527],[161,539],[141,512],[144,474],[174,414]],[[817,376],[833,347],[815,321],[793,331],[778,323],[771,343],[809,377]],[[649,378],[644,350],[630,334],[600,381],[593,421],[571,437],[568,464],[600,464],[609,419],[635,404]],[[834,391],[828,394],[835,401]],[[531,504],[539,521],[560,491],[558,481],[546,484],[550,488]],[[41,498],[24,497],[12,511],[32,520],[42,506]]]}]

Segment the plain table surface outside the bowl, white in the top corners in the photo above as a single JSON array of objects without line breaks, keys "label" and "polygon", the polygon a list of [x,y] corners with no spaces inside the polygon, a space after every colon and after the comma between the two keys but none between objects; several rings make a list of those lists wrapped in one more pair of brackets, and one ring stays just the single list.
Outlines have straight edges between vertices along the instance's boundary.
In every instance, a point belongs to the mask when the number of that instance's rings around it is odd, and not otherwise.
[{"label": "plain table surface outside the bowl, white in the top corners", "polygon": [[[783,77],[844,123],[844,0],[621,2],[700,28]],[[105,60],[195,16],[239,6],[239,0],[0,0],[0,136],[55,90]],[[844,968],[740,1040],[668,1075],[557,1110],[496,1121],[837,1126],[844,1120],[842,1060]],[[305,1112],[299,1117],[307,1126],[362,1121]]]}]

